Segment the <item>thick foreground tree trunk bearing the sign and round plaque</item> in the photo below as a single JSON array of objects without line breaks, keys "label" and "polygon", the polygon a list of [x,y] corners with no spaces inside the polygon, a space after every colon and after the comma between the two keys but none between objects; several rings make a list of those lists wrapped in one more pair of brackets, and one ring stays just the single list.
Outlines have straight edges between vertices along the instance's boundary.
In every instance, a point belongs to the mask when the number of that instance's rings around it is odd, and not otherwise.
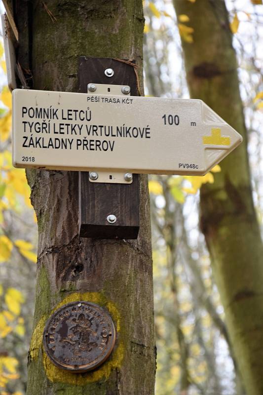
[{"label": "thick foreground tree trunk bearing the sign and round plaque", "polygon": [[[142,84],[141,0],[17,0],[19,60],[32,68],[33,88],[77,91],[80,55],[134,59]],[[47,9],[56,19],[51,20]],[[29,30],[29,34],[28,34]],[[27,53],[30,57],[27,58]],[[28,395],[153,394],[150,215],[147,177],[140,182],[138,240],[79,239],[78,173],[28,171],[38,217],[38,275]],[[74,300],[106,306],[117,328],[113,354],[100,368],[73,374],[43,353],[42,331],[51,312]]]}]

